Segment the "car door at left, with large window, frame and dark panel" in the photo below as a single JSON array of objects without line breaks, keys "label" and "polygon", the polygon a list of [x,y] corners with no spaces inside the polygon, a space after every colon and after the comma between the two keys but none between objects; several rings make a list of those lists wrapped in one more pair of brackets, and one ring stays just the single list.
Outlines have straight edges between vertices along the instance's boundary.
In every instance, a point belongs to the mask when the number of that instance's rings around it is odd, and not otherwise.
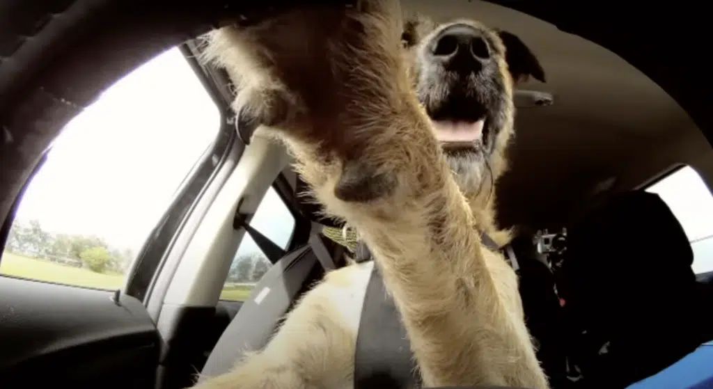
[{"label": "car door at left, with large window, frame and dark panel", "polygon": [[151,280],[235,147],[188,48],[151,58],[61,130],[3,224],[3,388],[153,388]]}]

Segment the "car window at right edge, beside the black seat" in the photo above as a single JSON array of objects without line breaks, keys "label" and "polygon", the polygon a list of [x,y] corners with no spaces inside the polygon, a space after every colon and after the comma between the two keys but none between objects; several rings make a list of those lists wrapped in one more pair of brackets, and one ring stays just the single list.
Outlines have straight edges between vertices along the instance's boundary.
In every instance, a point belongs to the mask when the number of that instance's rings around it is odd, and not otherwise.
[{"label": "car window at right edge, beside the black seat", "polygon": [[713,271],[713,195],[700,175],[682,167],[647,187],[668,204],[693,249],[693,271]]}]

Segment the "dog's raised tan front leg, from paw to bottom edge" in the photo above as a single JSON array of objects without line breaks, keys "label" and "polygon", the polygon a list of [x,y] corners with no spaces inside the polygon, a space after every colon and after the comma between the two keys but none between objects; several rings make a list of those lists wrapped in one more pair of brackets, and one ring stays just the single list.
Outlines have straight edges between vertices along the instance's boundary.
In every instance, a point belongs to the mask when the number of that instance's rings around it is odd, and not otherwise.
[{"label": "dog's raised tan front leg, from paw to bottom edge", "polygon": [[400,51],[395,0],[217,33],[240,125],[269,125],[373,252],[428,386],[546,388],[514,272],[481,246]]}]

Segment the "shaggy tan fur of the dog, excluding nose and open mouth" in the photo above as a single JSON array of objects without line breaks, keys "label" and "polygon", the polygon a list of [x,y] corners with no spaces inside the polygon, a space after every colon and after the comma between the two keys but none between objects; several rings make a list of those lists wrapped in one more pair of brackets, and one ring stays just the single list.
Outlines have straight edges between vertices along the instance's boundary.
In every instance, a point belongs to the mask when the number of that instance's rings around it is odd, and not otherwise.
[{"label": "shaggy tan fur of the dog, excluding nose and open mouth", "polygon": [[[456,76],[429,59],[434,38],[451,24],[404,24],[396,0],[223,27],[206,53],[235,82],[240,125],[269,126],[327,213],[359,231],[425,386],[547,388],[515,272],[480,239],[481,232],[499,244],[510,239],[496,226],[492,192],[513,135],[513,81],[544,73],[517,37],[459,22],[487,43],[489,59],[477,74]],[[513,51],[506,54],[503,41]],[[506,58],[515,58],[509,70]],[[434,136],[429,115],[453,96],[475,101],[487,118],[483,142],[468,150],[443,149]],[[264,350],[198,386],[351,388],[370,266],[327,274]]]}]

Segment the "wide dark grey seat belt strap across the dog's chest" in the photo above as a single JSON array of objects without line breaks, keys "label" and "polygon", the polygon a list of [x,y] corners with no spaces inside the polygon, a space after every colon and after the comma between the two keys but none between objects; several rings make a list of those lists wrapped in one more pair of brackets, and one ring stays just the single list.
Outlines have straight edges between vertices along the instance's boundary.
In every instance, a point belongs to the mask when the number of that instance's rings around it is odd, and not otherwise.
[{"label": "wide dark grey seat belt strap across the dog's chest", "polygon": [[[481,242],[488,249],[501,250],[486,234],[481,234]],[[401,314],[374,263],[356,335],[354,389],[411,389],[419,388],[421,383]]]}]

